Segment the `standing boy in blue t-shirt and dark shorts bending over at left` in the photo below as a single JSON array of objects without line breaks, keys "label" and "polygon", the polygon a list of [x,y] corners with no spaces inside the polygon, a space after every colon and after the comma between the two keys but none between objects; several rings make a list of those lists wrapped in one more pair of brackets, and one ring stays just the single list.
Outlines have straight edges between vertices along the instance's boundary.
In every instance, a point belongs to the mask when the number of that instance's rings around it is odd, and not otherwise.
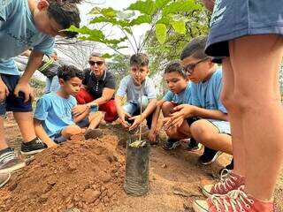
[{"label": "standing boy in blue t-shirt and dark shorts bending over at left", "polygon": [[[24,141],[21,152],[26,155],[46,148],[34,133],[29,79],[42,64],[43,54],[52,53],[54,36],[76,35],[60,31],[71,25],[80,27],[80,12],[76,4],[65,1],[13,0],[0,8],[0,46],[4,49],[0,51],[0,115],[6,110],[13,112]],[[31,48],[26,71],[19,77],[13,57]],[[0,173],[23,166],[4,139],[4,120],[0,117]]]}]

